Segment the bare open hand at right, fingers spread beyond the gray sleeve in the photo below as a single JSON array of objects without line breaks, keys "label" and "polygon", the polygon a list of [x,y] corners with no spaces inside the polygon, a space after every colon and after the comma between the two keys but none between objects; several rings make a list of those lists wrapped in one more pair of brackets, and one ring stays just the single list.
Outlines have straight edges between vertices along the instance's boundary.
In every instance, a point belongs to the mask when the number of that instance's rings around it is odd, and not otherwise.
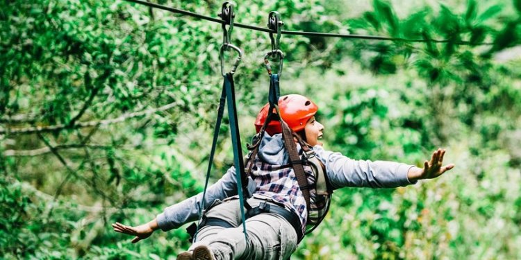
[{"label": "bare open hand at right, fingers spread beyond the gray sleeve", "polygon": [[445,155],[445,149],[438,148],[434,151],[431,156],[431,161],[425,161],[423,168],[413,167],[410,168],[407,173],[407,178],[411,182],[424,179],[433,179],[439,177],[446,171],[454,168],[454,164],[448,164],[443,166],[443,156]]}]

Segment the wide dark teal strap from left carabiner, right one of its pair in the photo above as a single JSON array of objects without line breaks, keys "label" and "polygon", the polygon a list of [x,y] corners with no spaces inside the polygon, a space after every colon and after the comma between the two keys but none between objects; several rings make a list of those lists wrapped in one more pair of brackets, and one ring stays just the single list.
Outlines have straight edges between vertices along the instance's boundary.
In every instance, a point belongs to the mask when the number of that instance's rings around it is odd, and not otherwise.
[{"label": "wide dark teal strap from left carabiner, right one of its pair", "polygon": [[[248,239],[246,233],[245,221],[245,198],[242,190],[242,182],[247,182],[245,178],[245,166],[242,161],[242,148],[240,146],[240,132],[237,122],[237,108],[235,107],[235,86],[233,85],[233,75],[227,73],[224,77],[224,88],[226,89],[226,99],[228,100],[228,116],[230,120],[231,141],[233,143],[233,162],[235,163],[235,179],[237,179],[237,193],[239,194],[240,216],[242,217],[242,232],[245,233],[245,239]],[[243,180],[244,178],[244,180]]]}]

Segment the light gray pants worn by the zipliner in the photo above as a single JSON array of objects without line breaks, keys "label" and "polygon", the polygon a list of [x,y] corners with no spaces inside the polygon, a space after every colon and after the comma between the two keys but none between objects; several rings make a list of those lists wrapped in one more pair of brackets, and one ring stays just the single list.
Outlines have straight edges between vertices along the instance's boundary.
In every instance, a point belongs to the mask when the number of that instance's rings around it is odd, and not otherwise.
[{"label": "light gray pants worn by the zipliner", "polygon": [[[247,201],[251,207],[257,207],[264,200],[249,198]],[[217,202],[206,216],[225,220],[233,228],[202,227],[190,250],[197,245],[206,245],[216,259],[288,259],[297,248],[295,229],[286,218],[272,213],[258,214],[246,220],[246,240],[242,232],[239,200]]]}]

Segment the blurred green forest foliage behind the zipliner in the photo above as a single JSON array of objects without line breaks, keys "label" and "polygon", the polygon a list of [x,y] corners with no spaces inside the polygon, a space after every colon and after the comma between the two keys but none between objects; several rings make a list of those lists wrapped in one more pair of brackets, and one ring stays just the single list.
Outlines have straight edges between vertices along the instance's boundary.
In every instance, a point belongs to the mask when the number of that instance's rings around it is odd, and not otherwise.
[{"label": "blurred green forest foliage behind the zipliner", "polygon": [[[156,0],[217,17],[222,2]],[[0,3],[0,256],[175,259],[183,228],[131,244],[202,191],[222,85],[220,24],[122,0]],[[281,94],[320,107],[324,146],[456,168],[346,188],[293,259],[521,259],[521,0],[238,1],[235,21],[445,43],[282,35]],[[267,102],[267,33],[233,30],[242,144]],[[231,58],[229,58],[231,59]],[[233,164],[222,125],[215,182]]]}]

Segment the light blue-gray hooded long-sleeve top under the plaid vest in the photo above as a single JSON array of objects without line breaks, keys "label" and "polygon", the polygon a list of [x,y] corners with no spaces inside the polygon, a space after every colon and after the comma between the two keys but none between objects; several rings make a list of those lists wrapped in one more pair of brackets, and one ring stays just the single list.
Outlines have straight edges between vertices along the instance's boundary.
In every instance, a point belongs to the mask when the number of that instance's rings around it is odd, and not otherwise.
[{"label": "light blue-gray hooded long-sleeve top under the plaid vest", "polygon": [[[259,157],[263,157],[274,164],[287,162],[288,155],[283,148],[280,134],[270,137],[265,135],[259,148]],[[413,184],[407,178],[408,170],[412,165],[385,162],[350,159],[340,153],[324,150],[322,146],[313,147],[315,155],[326,166],[326,174],[333,189],[342,187],[370,187],[370,188],[395,188]],[[255,192],[253,180],[249,183],[249,191]],[[237,183],[235,179],[235,167],[226,171],[220,180],[208,187],[206,191],[205,207],[210,206],[215,200],[224,200],[237,195]],[[199,218],[203,194],[199,193],[182,202],[167,207],[163,213],[158,214],[157,221],[160,229],[167,231],[181,227],[181,225]]]}]

